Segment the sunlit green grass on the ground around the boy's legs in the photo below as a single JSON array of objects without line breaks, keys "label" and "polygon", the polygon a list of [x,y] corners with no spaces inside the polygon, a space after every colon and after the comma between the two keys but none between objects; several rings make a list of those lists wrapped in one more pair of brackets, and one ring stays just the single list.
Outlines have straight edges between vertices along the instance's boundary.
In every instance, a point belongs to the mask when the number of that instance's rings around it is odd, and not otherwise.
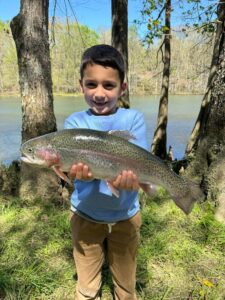
[{"label": "sunlit green grass on the ground around the boy's legs", "polygon": [[[161,196],[142,196],[139,299],[224,300],[225,226],[210,203],[185,216]],[[73,299],[69,215],[69,204],[0,198],[0,299]],[[112,299],[108,269],[103,273],[103,300]]]}]

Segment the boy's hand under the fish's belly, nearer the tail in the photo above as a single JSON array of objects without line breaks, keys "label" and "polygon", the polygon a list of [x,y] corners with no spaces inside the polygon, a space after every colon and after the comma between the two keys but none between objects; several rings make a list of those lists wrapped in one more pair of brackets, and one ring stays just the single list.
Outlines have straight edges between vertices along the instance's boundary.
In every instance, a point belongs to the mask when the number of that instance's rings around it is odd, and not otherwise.
[{"label": "boy's hand under the fish's belly, nearer the tail", "polygon": [[139,181],[133,171],[123,171],[115,180],[110,182],[116,189],[138,191]]}]

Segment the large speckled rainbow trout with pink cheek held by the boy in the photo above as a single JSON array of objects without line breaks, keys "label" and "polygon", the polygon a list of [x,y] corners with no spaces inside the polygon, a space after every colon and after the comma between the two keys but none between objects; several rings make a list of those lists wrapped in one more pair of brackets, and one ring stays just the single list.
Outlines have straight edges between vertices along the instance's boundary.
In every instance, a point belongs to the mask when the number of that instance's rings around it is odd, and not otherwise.
[{"label": "large speckled rainbow trout with pink cheek held by the boy", "polygon": [[[151,186],[163,186],[176,205],[186,214],[190,213],[194,202],[203,196],[200,188],[178,176],[158,157],[130,143],[129,139],[134,137],[127,131],[64,129],[25,142],[21,160],[50,167],[67,182],[69,178],[63,172],[68,172],[78,162],[88,165],[96,179],[107,182],[123,170],[132,170],[147,194],[151,194]],[[118,196],[119,191],[112,189],[112,192]]]}]

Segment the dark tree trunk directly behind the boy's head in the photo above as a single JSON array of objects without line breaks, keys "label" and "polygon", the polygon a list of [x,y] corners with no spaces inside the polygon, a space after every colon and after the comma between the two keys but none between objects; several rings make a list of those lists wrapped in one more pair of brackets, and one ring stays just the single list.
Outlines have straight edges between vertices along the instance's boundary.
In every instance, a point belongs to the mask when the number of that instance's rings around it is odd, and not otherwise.
[{"label": "dark tree trunk directly behind the boy's head", "polygon": [[128,89],[128,0],[112,0],[112,46],[123,56],[125,62],[125,81],[127,89],[119,99],[121,107],[129,108]]}]

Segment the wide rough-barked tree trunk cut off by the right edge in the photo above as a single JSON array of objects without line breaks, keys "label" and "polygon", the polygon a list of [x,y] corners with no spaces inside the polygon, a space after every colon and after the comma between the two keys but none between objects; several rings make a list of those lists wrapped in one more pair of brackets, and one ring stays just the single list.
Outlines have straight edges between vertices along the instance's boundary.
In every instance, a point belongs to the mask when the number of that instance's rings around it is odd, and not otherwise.
[{"label": "wide rough-barked tree trunk cut off by the right edge", "polygon": [[[218,4],[218,15],[225,12],[225,3]],[[219,44],[219,59],[211,96],[200,131],[196,149],[187,157],[190,160],[186,174],[195,177],[217,206],[216,216],[225,222],[225,21]]]}]

